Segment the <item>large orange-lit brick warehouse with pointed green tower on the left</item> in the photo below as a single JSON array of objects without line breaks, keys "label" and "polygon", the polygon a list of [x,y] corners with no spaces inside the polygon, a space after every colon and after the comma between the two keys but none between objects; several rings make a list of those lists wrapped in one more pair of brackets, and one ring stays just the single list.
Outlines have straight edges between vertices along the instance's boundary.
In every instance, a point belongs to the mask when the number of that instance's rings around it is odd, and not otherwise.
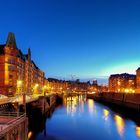
[{"label": "large orange-lit brick warehouse with pointed green tower on the left", "polygon": [[6,44],[0,45],[0,94],[41,93],[44,79],[44,72],[31,59],[30,49],[23,54],[10,32]]}]

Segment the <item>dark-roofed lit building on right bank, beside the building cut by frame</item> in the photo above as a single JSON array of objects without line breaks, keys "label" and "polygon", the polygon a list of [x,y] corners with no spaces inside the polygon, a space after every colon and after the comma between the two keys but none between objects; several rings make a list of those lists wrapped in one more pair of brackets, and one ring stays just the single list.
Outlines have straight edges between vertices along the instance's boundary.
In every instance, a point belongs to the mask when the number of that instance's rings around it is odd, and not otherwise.
[{"label": "dark-roofed lit building on right bank, beside the building cut by frame", "polygon": [[134,93],[136,89],[136,75],[123,73],[109,77],[110,92]]}]

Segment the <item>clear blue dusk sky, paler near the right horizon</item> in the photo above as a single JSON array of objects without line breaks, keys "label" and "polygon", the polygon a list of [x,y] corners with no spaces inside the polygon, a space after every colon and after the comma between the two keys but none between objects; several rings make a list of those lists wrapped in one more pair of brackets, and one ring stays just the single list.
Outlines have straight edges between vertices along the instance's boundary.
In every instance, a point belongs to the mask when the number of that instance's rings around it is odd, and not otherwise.
[{"label": "clear blue dusk sky, paler near the right horizon", "polygon": [[140,66],[140,0],[1,0],[0,43],[18,48],[46,74],[106,78]]}]

